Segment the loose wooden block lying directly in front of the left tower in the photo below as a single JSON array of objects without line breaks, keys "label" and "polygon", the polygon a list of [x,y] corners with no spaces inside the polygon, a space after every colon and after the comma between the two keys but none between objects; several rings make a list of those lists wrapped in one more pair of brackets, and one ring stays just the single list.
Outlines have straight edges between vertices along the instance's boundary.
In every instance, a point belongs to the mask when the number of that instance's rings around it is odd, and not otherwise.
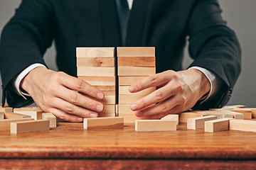
[{"label": "loose wooden block lying directly in front of the left tower", "polygon": [[84,118],[84,129],[124,128],[124,118]]}]

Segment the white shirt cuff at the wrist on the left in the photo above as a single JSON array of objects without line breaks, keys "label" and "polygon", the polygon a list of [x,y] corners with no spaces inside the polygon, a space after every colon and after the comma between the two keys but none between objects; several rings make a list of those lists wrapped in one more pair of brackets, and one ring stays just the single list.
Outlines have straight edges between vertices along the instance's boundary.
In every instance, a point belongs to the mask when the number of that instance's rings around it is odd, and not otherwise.
[{"label": "white shirt cuff at the wrist on the left", "polygon": [[20,74],[18,74],[18,76],[14,79],[14,89],[16,90],[16,93],[23,96],[23,98],[26,99],[25,96],[30,96],[28,93],[24,93],[23,91],[21,91],[20,89],[20,85],[21,85],[21,81],[24,77],[26,77],[26,75],[31,72],[32,69],[35,69],[36,67],[45,67],[45,65],[40,64],[40,63],[36,63],[36,64],[31,64],[30,66],[26,67],[26,69],[24,69]]}]

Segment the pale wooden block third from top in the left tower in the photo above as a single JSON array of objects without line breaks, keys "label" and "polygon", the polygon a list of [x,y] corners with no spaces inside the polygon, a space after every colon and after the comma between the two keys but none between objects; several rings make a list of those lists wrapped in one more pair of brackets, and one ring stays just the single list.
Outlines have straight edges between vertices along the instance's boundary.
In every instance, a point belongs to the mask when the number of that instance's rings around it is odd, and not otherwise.
[{"label": "pale wooden block third from top in the left tower", "polygon": [[78,77],[95,76],[95,77],[114,77],[114,67],[78,67]]}]

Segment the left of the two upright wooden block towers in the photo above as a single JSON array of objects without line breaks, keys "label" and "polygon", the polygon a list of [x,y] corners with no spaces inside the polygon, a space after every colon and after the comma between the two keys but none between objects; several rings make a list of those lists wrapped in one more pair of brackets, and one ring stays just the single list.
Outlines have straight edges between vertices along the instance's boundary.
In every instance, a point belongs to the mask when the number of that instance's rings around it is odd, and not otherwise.
[{"label": "left of the two upright wooden block towers", "polygon": [[76,52],[78,78],[105,94],[104,100],[100,101],[104,104],[104,111],[99,113],[99,117],[115,116],[114,47],[77,47]]}]

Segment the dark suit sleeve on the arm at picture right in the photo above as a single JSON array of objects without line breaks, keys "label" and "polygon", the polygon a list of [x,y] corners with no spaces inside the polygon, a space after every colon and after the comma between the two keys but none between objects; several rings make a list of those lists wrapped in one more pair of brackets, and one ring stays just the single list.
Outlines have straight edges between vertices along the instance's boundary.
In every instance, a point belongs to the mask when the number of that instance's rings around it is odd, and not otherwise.
[{"label": "dark suit sleeve on the arm at picture right", "polygon": [[210,101],[196,103],[195,109],[221,108],[228,103],[240,74],[241,50],[233,30],[221,16],[216,0],[199,0],[193,6],[188,23],[189,67],[199,66],[223,80],[223,86]]}]

